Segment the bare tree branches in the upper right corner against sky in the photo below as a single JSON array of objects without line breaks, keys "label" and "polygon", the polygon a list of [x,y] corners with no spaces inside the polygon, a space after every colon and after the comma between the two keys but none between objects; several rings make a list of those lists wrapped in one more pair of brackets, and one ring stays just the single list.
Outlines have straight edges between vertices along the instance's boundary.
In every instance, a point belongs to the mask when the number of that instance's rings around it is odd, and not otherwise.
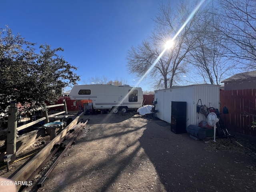
[{"label": "bare tree branches in the upper right corner against sky", "polygon": [[232,46],[229,55],[244,62],[250,68],[256,68],[256,1],[255,0],[219,0],[222,7],[222,32]]}]

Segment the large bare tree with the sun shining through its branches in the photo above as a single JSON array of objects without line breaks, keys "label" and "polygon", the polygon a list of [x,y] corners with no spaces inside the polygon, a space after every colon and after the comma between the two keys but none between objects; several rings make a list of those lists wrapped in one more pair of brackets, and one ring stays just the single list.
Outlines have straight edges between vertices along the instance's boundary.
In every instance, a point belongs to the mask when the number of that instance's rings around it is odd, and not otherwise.
[{"label": "large bare tree with the sun shining through its branches", "polygon": [[[136,48],[132,46],[128,51],[127,66],[130,73],[140,78],[150,76],[154,88],[170,88],[178,84],[180,74],[186,72],[187,62],[184,58],[196,40],[191,36],[197,20],[197,14],[189,17],[192,8],[194,6],[188,1],[182,1],[176,9],[170,4],[160,6],[152,34],[142,44]],[[190,21],[186,22],[188,18]],[[184,28],[180,30],[182,26]],[[174,36],[176,39],[172,47],[162,53],[166,42]]]}]

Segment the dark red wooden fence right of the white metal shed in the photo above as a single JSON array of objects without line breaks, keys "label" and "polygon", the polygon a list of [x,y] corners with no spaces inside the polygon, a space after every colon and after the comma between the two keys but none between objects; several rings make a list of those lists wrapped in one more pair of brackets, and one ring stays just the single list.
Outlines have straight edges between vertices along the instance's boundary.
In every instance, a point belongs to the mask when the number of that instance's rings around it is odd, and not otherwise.
[{"label": "dark red wooden fence right of the white metal shed", "polygon": [[[228,114],[221,114],[228,130],[256,136],[256,128],[252,122],[256,121],[256,89],[220,90],[220,112],[223,107],[228,108]],[[225,120],[226,118],[226,120]]]}]

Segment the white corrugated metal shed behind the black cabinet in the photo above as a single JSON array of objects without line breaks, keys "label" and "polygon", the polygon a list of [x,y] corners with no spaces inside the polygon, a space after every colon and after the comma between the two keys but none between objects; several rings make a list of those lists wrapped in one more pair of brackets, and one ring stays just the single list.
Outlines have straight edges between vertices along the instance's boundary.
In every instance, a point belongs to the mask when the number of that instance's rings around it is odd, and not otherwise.
[{"label": "white corrugated metal shed behind the black cabinet", "polygon": [[[156,116],[166,122],[171,123],[172,101],[187,102],[186,107],[186,127],[197,125],[202,120],[206,121],[203,114],[196,112],[198,100],[201,99],[202,105],[208,108],[211,106],[219,109],[220,86],[210,84],[196,84],[188,86],[178,86],[163,90],[155,90],[155,100],[157,99]],[[198,104],[201,105],[201,102]]]}]

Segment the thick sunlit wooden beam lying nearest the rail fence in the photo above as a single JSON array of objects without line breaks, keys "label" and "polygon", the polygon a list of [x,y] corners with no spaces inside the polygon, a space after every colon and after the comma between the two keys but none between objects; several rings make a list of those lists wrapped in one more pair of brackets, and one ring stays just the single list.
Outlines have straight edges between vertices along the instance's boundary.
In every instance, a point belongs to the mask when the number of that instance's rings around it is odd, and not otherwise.
[{"label": "thick sunlit wooden beam lying nearest the rail fence", "polygon": [[[66,128],[64,128],[50,143],[48,143],[32,160],[30,160],[24,167],[22,167],[12,178],[14,182],[18,181],[26,181],[30,175],[36,170],[42,162],[48,157],[51,153],[51,150],[54,146],[54,144],[58,143],[59,140],[61,140],[62,137],[66,135],[66,133],[77,124],[77,122],[82,119],[84,116],[84,113],[82,112],[79,116],[77,116]],[[17,186],[17,189],[19,190],[21,185]]]}]

